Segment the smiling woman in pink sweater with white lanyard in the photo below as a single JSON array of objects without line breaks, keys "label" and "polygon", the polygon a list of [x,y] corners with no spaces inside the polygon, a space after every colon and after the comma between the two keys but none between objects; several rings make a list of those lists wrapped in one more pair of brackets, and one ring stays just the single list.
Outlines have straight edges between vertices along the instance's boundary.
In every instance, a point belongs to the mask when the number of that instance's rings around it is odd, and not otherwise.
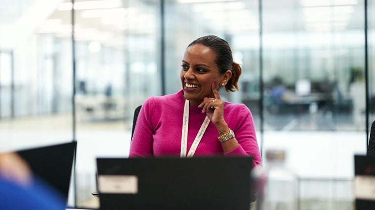
[{"label": "smiling woman in pink sweater with white lanyard", "polygon": [[238,89],[241,67],[228,42],[205,36],[191,42],[181,69],[183,90],[146,100],[129,157],[252,156],[261,164],[250,110],[221,99],[217,89]]}]

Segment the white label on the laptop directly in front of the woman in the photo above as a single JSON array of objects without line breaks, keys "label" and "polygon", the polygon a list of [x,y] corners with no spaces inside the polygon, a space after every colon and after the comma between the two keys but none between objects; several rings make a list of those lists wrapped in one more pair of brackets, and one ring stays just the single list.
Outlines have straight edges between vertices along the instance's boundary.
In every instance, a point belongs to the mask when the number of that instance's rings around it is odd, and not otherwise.
[{"label": "white label on the laptop directly in front of the woman", "polygon": [[100,193],[138,193],[138,177],[135,175],[99,175],[98,185]]}]

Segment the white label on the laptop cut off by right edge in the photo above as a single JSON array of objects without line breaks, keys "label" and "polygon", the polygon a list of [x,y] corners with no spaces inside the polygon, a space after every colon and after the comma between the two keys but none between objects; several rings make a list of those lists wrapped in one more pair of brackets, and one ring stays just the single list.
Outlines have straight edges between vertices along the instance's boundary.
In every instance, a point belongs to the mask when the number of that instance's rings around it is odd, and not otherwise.
[{"label": "white label on the laptop cut off by right edge", "polygon": [[365,200],[375,200],[375,176],[356,175],[355,176],[355,198]]}]

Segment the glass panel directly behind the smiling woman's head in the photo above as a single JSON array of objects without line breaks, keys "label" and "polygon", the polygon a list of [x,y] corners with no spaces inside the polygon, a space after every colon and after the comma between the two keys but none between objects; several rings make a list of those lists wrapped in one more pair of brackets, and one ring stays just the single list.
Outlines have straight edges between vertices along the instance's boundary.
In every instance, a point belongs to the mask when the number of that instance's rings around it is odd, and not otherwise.
[{"label": "glass panel directly behind the smiling woman's head", "polygon": [[240,90],[233,93],[222,90],[221,96],[226,101],[247,105],[255,128],[260,129],[258,2],[166,0],[165,25],[167,94],[182,88],[179,75],[187,45],[202,36],[219,36],[229,42],[233,60],[243,68]]}]

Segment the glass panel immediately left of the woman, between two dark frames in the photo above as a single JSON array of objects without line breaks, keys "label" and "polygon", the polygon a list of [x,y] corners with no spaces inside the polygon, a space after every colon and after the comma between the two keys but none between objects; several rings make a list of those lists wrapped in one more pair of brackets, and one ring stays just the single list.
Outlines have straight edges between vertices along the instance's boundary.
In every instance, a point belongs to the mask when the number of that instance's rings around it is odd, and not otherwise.
[{"label": "glass panel immediately left of the woman, between two dark frames", "polygon": [[[63,8],[63,7],[62,7]],[[76,1],[76,196],[97,208],[96,158],[126,157],[134,109],[160,95],[157,1]]]}]

